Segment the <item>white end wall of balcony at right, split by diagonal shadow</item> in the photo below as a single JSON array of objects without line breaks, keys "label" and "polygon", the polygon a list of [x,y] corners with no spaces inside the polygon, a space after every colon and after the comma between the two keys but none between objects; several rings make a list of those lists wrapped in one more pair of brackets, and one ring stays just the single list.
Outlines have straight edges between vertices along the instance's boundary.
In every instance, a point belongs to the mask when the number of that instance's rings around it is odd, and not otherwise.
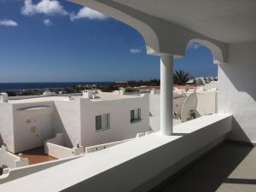
[{"label": "white end wall of balcony at right, split by diagonal shadow", "polygon": [[218,67],[218,112],[232,113],[230,139],[256,142],[256,41],[230,44],[229,62]]}]

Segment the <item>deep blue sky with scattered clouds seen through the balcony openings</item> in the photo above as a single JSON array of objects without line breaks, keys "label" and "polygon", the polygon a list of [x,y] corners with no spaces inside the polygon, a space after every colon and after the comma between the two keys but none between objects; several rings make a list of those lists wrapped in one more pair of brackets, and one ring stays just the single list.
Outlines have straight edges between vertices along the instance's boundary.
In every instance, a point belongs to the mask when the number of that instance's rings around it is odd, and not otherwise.
[{"label": "deep blue sky with scattered clouds seen through the balcony openings", "polygon": [[[159,79],[130,26],[66,1],[0,0],[0,83]],[[216,76],[212,53],[189,44],[176,69]]]}]

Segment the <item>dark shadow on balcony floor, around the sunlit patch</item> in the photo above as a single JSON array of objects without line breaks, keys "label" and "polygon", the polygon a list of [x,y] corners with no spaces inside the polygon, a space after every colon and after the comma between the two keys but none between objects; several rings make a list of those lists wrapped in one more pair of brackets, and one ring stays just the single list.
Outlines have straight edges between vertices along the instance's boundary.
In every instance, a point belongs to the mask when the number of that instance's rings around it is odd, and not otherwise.
[{"label": "dark shadow on balcony floor, around the sunlit patch", "polygon": [[252,149],[223,143],[149,192],[215,192],[222,183],[255,183],[228,178]]}]

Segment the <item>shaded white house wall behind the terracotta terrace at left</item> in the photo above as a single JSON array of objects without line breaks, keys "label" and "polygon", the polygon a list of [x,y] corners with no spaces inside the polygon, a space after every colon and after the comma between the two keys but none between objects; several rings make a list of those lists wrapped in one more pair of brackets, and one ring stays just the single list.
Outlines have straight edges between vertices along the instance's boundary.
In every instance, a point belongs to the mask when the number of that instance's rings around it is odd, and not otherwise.
[{"label": "shaded white house wall behind the terracotta terrace at left", "polygon": [[[38,148],[44,141],[53,137],[52,132],[53,102],[16,103],[14,108],[14,139],[13,153],[31,148]],[[26,110],[26,108],[34,108]]]}]

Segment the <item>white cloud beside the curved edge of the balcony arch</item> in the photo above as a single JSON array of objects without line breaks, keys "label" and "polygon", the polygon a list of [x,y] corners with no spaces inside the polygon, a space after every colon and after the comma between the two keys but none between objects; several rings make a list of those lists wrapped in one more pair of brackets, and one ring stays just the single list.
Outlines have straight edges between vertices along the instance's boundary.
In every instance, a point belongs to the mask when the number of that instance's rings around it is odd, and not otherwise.
[{"label": "white cloud beside the curved edge of the balcony arch", "polygon": [[82,8],[77,14],[71,14],[70,20],[89,19],[89,20],[106,20],[107,15],[103,15],[96,10],[90,8]]}]

